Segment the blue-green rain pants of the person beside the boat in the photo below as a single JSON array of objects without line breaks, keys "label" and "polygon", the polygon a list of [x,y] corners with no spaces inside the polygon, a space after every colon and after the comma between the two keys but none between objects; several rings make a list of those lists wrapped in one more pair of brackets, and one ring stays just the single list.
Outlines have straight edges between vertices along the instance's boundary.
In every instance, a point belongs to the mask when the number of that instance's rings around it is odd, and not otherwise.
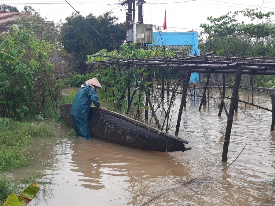
[{"label": "blue-green rain pants of the person beside the boat", "polygon": [[74,123],[74,129],[77,136],[82,136],[86,139],[91,139],[91,130],[89,121],[84,118],[71,115]]}]

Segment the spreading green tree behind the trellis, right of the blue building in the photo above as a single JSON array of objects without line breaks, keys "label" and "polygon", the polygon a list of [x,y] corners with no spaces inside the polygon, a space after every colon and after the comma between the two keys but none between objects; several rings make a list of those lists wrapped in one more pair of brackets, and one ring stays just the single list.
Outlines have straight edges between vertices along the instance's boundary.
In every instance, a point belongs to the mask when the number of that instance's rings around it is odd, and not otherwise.
[{"label": "spreading green tree behind the trellis, right of the blue building", "polygon": [[[238,22],[237,16],[249,17],[251,22]],[[208,17],[210,24],[201,24],[204,33],[200,36],[202,52],[216,51],[222,56],[270,56],[275,52],[275,25],[270,18],[273,12],[262,13],[247,9],[227,13],[218,18]],[[254,24],[252,21],[257,20]],[[265,21],[264,21],[265,20]],[[207,38],[204,39],[204,34]],[[266,41],[264,41],[266,38]]]}]

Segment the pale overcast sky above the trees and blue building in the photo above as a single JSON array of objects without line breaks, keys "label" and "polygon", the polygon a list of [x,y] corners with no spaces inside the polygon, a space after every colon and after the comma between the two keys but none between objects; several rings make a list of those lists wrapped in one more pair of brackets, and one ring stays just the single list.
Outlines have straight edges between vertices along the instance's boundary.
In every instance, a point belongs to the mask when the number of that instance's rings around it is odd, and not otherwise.
[{"label": "pale overcast sky above the trees and blue building", "polygon": [[[125,7],[114,5],[114,3],[118,1],[119,0],[68,0],[83,16],[89,13],[100,15],[105,11],[113,10],[114,15],[119,17],[119,22],[123,22],[126,18]],[[24,5],[30,5],[36,10],[39,9],[41,15],[43,17],[46,16],[48,21],[54,20],[55,23],[60,19],[64,21],[65,18],[73,12],[73,9],[65,0],[2,0],[1,4],[13,5],[19,10],[22,10]],[[166,9],[168,32],[188,31],[190,29],[200,31],[200,23],[208,23],[206,19],[208,16],[218,17],[229,11],[233,12],[246,8],[255,9],[261,6],[263,12],[275,12],[275,0],[193,0],[189,2],[184,2],[184,0],[147,0],[146,4],[144,4],[144,23],[162,26],[164,11]],[[120,9],[122,9],[122,11]],[[240,20],[245,19],[240,18]],[[136,14],[136,22],[137,21],[138,14]]]}]

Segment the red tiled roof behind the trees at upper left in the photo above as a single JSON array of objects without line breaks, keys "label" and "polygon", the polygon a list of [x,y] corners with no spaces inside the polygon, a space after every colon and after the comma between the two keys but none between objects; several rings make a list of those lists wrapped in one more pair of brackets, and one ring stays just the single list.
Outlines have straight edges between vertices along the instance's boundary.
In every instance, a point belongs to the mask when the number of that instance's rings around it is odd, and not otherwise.
[{"label": "red tiled roof behind the trees at upper left", "polygon": [[[32,23],[31,13],[0,12],[0,33],[8,31],[13,24],[18,28],[24,28],[24,23]],[[21,19],[23,22],[19,22]],[[52,33],[56,32],[54,21],[45,21],[45,29]]]}]

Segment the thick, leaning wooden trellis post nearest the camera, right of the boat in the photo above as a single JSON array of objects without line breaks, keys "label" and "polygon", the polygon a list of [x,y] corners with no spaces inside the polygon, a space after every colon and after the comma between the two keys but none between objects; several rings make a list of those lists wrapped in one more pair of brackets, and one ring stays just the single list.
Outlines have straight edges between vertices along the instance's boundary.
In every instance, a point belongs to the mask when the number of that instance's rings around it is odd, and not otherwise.
[{"label": "thick, leaning wooden trellis post nearest the camera, right of the boat", "polygon": [[236,80],[232,92],[230,107],[229,107],[229,114],[227,118],[227,125],[226,125],[226,133],[223,141],[223,150],[222,150],[222,161],[227,161],[227,154],[228,154],[228,146],[229,140],[231,135],[233,117],[234,117],[234,109],[236,105],[236,101],[238,100],[238,92],[240,87],[240,81],[242,78],[243,67],[240,66],[237,70]]}]

